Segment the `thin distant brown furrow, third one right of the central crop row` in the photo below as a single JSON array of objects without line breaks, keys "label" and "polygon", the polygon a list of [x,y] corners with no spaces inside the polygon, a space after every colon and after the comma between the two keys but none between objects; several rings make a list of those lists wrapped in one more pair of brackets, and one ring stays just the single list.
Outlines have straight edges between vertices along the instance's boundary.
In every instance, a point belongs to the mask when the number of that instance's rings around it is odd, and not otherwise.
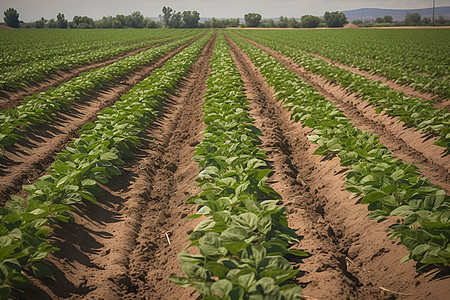
[{"label": "thin distant brown furrow, third one right of the central crop row", "polygon": [[380,75],[376,75],[376,74],[372,74],[368,71],[364,71],[355,67],[350,67],[348,65],[345,65],[343,63],[340,62],[336,62],[334,60],[331,60],[325,56],[321,56],[319,54],[315,54],[312,52],[308,52],[309,54],[311,54],[312,56],[324,60],[329,64],[332,64],[336,67],[339,67],[341,69],[345,69],[348,70],[352,73],[355,74],[359,74],[362,75],[364,77],[367,77],[371,80],[374,81],[381,81],[382,83],[384,83],[385,85],[389,86],[391,89],[393,90],[397,90],[400,91],[402,93],[404,93],[406,96],[411,97],[411,98],[419,98],[419,99],[423,99],[423,100],[432,100],[434,102],[436,102],[434,104],[434,108],[438,108],[438,109],[442,109],[442,108],[446,108],[446,109],[450,109],[450,100],[448,99],[443,99],[441,96],[439,95],[435,95],[433,93],[427,93],[427,92],[421,92],[418,91],[412,87],[406,86],[406,85],[402,85],[402,84],[398,84],[396,83],[394,80],[388,79],[386,77],[380,76]]}]

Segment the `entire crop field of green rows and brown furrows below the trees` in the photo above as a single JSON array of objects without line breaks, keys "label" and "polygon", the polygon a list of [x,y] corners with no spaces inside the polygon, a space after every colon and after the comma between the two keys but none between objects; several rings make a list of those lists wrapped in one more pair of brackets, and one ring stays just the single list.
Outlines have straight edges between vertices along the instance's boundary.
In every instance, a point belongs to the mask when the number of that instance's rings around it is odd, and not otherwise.
[{"label": "entire crop field of green rows and brown furrows below the trees", "polygon": [[0,299],[448,299],[450,29],[0,40]]}]

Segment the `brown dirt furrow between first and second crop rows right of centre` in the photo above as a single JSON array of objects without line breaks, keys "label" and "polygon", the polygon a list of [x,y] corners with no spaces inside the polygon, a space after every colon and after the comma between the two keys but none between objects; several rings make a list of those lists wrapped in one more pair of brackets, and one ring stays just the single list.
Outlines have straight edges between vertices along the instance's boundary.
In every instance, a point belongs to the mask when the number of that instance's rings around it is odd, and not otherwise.
[{"label": "brown dirt furrow between first and second crop rows right of centre", "polygon": [[433,184],[442,187],[447,193],[450,192],[450,160],[444,155],[442,147],[433,145],[436,137],[408,128],[403,122],[399,122],[398,118],[384,112],[377,114],[374,106],[367,101],[361,101],[356,94],[329,83],[325,78],[307,71],[276,51],[247,41],[272,55],[316,88],[322,96],[334,102],[344,115],[352,120],[354,126],[379,136],[380,142],[391,150],[395,157],[418,166],[421,173]]}]

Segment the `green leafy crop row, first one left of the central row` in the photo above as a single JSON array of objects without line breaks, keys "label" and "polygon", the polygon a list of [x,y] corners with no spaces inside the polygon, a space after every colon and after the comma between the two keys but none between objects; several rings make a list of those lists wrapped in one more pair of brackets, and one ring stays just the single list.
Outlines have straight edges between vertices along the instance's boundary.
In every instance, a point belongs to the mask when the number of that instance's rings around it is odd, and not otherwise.
[{"label": "green leafy crop row, first one left of the central row", "polygon": [[[188,71],[212,33],[171,58],[162,68],[137,84],[113,106],[102,110],[98,120],[87,123],[48,169],[48,175],[24,186],[26,199],[13,196],[0,208],[0,296],[8,298],[11,287],[25,288],[29,279],[23,269],[37,277],[50,274],[42,263],[58,249],[46,238],[53,224],[68,222],[75,204],[96,202],[97,183],[121,174],[117,168],[139,144],[139,134],[156,120],[168,93]],[[184,43],[187,41],[185,40]]]}]

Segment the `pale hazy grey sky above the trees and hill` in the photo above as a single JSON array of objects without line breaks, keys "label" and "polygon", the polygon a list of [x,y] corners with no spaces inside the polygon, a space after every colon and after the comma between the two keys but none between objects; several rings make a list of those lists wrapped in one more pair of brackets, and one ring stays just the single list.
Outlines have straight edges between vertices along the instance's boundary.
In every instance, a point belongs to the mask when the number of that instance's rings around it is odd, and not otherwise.
[{"label": "pale hazy grey sky above the trees and hill", "polygon": [[[426,8],[432,0],[0,0],[0,12],[12,7],[19,12],[19,19],[25,22],[40,17],[55,18],[61,12],[66,19],[73,16],[128,15],[140,11],[146,17],[158,17],[163,6],[176,11],[196,10],[201,17],[237,18],[245,13],[260,13],[263,18],[301,17],[305,14],[321,16],[325,11],[357,8]],[[450,0],[436,0],[436,6],[448,6]]]}]

